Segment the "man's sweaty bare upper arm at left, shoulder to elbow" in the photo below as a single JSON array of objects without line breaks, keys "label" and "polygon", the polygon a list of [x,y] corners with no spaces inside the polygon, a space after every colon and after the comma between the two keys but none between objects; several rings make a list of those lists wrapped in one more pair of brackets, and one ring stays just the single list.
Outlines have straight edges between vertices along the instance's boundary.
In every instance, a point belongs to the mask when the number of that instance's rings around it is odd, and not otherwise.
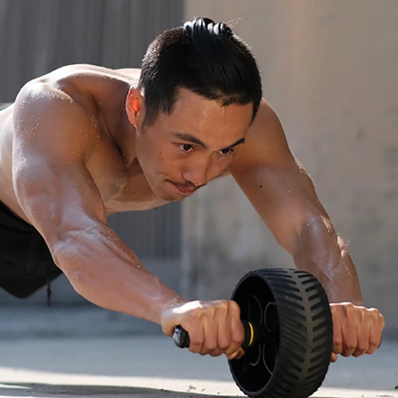
[{"label": "man's sweaty bare upper arm at left, shoulder to elbow", "polygon": [[[98,188],[85,166],[87,116],[77,104],[16,103],[12,178],[16,198],[49,247],[66,230],[105,220]],[[80,130],[80,131],[79,131]]]}]

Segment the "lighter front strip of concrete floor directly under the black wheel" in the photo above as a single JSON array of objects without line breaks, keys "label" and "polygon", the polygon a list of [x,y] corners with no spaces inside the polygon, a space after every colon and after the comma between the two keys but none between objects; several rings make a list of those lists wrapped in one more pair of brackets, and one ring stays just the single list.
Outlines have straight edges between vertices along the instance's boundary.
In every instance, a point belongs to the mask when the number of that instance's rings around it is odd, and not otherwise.
[{"label": "lighter front strip of concrete floor directly under the black wheel", "polygon": [[[398,397],[398,342],[331,364],[316,397]],[[165,336],[0,341],[0,397],[235,397],[224,357],[201,357]]]}]

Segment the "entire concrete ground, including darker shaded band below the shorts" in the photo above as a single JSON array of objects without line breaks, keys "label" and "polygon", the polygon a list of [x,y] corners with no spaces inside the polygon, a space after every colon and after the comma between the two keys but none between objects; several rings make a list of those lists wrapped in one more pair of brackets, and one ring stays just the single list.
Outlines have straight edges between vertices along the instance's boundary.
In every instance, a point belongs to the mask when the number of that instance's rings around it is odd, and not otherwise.
[{"label": "entire concrete ground, including darker shaded band below the shorts", "polygon": [[[315,397],[398,397],[398,341],[339,358]],[[89,306],[0,306],[0,398],[243,396],[225,357],[175,347],[149,322]]]}]

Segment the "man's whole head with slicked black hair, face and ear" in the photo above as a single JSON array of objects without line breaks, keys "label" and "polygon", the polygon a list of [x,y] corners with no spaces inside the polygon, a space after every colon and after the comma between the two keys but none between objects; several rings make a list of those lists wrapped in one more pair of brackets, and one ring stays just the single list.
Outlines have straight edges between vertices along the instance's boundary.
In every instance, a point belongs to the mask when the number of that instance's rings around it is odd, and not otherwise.
[{"label": "man's whole head with slicked black hair, face and ear", "polygon": [[208,18],[169,29],[149,45],[138,89],[126,101],[136,155],[152,190],[168,200],[227,169],[229,148],[243,140],[262,96],[247,45]]}]

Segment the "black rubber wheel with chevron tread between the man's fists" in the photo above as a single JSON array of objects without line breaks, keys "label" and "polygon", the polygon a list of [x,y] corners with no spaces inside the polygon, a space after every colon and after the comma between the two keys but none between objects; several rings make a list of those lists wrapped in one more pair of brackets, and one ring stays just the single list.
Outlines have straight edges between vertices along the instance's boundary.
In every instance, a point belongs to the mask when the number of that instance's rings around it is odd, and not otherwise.
[{"label": "black rubber wheel with chevron tread between the man's fists", "polygon": [[[258,398],[305,398],[313,394],[326,375],[333,343],[330,306],[318,280],[296,269],[256,270],[240,280],[231,299],[241,307],[242,320],[259,316],[262,327],[274,329],[269,340],[254,343],[241,359],[228,361],[239,389]],[[257,299],[262,306],[258,311]],[[267,304],[276,308],[273,322],[279,325],[265,326]],[[255,359],[249,362],[257,355],[257,364]]]}]

